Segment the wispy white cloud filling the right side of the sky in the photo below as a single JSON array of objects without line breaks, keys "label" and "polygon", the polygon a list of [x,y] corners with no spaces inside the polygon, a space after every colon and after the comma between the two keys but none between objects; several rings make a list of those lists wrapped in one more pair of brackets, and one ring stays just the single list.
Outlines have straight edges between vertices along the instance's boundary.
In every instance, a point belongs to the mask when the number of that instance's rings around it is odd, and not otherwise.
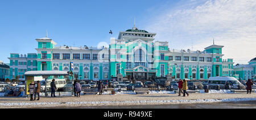
[{"label": "wispy white cloud filling the right side of the sky", "polygon": [[158,33],[175,49],[203,50],[224,45],[224,59],[246,64],[256,57],[256,1],[182,1],[182,5],[156,16],[146,30]]}]

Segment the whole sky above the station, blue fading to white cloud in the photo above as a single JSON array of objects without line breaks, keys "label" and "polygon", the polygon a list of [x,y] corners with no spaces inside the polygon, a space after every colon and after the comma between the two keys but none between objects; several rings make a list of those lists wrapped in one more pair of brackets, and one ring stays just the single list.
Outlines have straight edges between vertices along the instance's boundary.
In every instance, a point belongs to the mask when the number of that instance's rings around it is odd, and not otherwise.
[{"label": "whole sky above the station, blue fading to white cloud", "polygon": [[[253,0],[0,1],[0,60],[10,53],[36,53],[36,38],[57,45],[97,47],[136,26],[156,32],[171,49],[201,50],[225,45],[224,59],[247,63],[256,57]],[[109,30],[114,32],[109,34]],[[226,58],[225,58],[226,57]]]}]

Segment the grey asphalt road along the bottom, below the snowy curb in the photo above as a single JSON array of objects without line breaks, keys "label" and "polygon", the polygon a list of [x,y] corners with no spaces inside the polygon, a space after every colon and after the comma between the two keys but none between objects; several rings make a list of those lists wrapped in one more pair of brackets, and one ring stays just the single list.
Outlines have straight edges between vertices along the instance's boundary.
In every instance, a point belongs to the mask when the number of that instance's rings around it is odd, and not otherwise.
[{"label": "grey asphalt road along the bottom, below the snowy curb", "polygon": [[[36,107],[39,108],[40,107]],[[175,105],[129,105],[129,106],[55,106],[41,109],[256,109],[256,101],[214,102],[205,104],[175,104]]]}]

